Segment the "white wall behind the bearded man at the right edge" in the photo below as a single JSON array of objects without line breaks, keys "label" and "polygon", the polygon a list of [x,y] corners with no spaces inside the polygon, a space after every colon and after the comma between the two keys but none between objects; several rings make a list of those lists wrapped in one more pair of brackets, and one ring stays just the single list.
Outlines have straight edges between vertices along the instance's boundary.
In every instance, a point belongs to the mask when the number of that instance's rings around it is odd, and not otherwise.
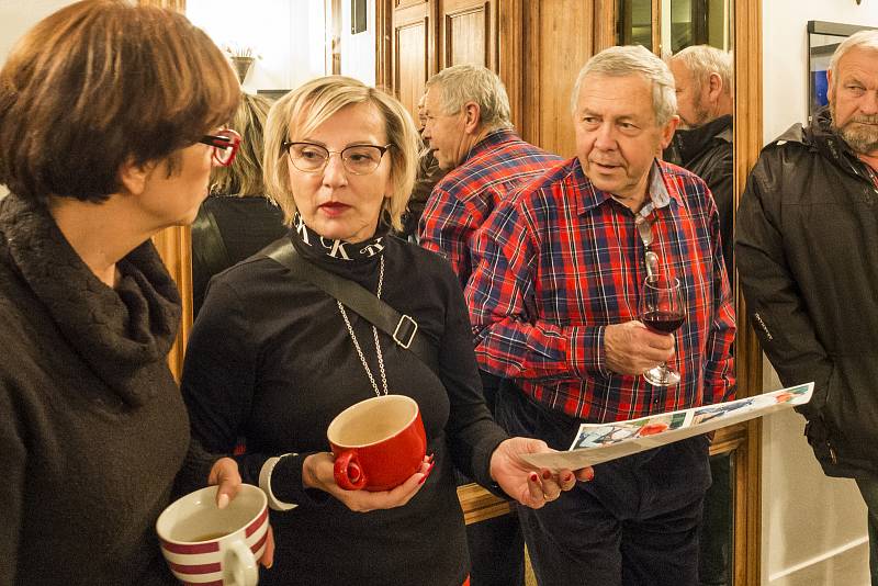
[{"label": "white wall behind the bearded man at the right edge", "polygon": [[[763,1],[766,143],[807,119],[809,20],[878,26],[878,0]],[[866,507],[853,481],[823,475],[803,428],[792,412],[764,420],[762,584],[867,586]]]}]

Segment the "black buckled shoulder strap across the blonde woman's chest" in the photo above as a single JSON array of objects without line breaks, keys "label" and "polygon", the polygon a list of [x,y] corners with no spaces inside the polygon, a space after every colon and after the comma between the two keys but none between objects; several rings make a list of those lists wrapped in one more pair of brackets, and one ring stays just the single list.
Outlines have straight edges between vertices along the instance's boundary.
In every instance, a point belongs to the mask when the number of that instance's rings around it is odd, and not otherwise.
[{"label": "black buckled shoulder strap across the blonde woman's chest", "polygon": [[401,314],[350,279],[334,274],[303,259],[289,237],[271,243],[259,253],[286,267],[294,277],[317,285],[387,334],[398,346],[412,351],[430,370],[437,370],[436,347],[425,334],[418,333],[418,323],[410,316]]}]

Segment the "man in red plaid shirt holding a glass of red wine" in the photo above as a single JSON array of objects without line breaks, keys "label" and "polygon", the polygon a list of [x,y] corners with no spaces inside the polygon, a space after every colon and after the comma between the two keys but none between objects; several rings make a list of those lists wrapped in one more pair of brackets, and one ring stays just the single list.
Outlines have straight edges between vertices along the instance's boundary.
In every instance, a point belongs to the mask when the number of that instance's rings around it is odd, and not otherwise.
[{"label": "man in red plaid shirt holding a glass of red wine", "polygon": [[[559,450],[581,422],[734,393],[716,204],[703,181],[655,159],[678,122],[671,71],[643,47],[606,49],[579,72],[572,105],[577,157],[497,206],[466,289],[480,367],[515,382],[497,396],[497,420]],[[683,285],[675,335],[639,320],[648,270]],[[678,385],[642,376],[663,361]],[[519,508],[538,582],[696,586],[709,485],[708,439],[697,437],[596,465],[564,498]]]}]

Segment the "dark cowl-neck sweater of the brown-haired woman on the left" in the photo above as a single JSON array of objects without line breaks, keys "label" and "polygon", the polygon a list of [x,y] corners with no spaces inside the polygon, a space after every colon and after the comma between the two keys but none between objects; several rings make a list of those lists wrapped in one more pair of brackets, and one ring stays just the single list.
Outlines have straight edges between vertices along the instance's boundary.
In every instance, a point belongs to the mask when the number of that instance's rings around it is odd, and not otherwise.
[{"label": "dark cowl-neck sweater of the brown-haired woman on the left", "polygon": [[154,526],[189,444],[180,298],[150,243],[117,268],[113,290],[44,209],[0,203],[0,585],[171,583]]}]

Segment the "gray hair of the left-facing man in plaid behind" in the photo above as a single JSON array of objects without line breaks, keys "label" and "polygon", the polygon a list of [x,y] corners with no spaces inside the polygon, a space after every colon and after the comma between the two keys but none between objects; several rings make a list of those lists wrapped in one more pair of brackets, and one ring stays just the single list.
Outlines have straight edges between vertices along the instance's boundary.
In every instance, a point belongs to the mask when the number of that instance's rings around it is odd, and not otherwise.
[{"label": "gray hair of the left-facing man in plaid behind", "polygon": [[488,129],[513,126],[509,97],[497,74],[480,65],[455,65],[442,69],[427,89],[442,89],[442,113],[457,114],[466,102],[479,104],[479,121]]}]

